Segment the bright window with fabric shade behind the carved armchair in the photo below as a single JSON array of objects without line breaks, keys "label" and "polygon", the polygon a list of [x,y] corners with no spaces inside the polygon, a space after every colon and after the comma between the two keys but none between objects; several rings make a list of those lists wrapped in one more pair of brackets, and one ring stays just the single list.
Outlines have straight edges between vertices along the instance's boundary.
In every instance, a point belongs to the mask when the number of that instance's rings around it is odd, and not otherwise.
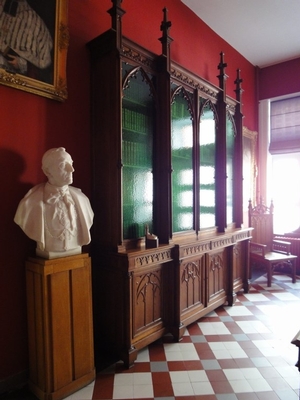
[{"label": "bright window with fabric shade behind the carved armchair", "polygon": [[272,197],[274,232],[300,226],[300,97],[271,102]]}]

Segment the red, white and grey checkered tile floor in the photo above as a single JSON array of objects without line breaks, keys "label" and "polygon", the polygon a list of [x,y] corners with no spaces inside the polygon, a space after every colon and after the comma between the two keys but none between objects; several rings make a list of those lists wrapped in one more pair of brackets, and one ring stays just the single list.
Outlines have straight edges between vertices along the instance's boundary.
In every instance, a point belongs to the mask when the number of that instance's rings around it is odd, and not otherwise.
[{"label": "red, white and grey checkered tile floor", "polygon": [[190,325],[180,343],[166,336],[139,352],[133,368],[116,363],[67,400],[298,400],[300,281],[258,278],[233,307]]}]

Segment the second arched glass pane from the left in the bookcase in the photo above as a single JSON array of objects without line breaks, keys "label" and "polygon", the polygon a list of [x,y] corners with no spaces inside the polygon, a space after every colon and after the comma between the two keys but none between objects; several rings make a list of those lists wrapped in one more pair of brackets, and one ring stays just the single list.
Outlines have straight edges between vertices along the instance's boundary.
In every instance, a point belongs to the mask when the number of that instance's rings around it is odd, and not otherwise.
[{"label": "second arched glass pane from the left in the bookcase", "polygon": [[190,96],[174,85],[171,105],[172,230],[194,227],[193,122]]}]

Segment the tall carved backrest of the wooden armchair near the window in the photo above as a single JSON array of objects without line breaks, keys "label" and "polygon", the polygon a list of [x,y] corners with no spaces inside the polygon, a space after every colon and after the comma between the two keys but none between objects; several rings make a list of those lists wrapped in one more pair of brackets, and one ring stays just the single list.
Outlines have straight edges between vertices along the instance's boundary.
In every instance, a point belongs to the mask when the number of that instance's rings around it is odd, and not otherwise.
[{"label": "tall carved backrest of the wooden armchair near the window", "polygon": [[272,249],[273,241],[273,210],[274,205],[271,201],[270,207],[260,203],[253,207],[251,200],[249,201],[248,215],[249,215],[249,226],[253,229],[252,242],[265,244],[267,251]]}]

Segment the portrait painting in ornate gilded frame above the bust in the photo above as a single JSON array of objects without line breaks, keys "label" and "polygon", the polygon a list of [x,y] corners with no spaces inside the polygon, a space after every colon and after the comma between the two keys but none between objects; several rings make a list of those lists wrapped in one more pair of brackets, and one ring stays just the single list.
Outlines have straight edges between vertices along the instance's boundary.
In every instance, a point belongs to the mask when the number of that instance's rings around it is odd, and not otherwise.
[{"label": "portrait painting in ornate gilded frame above the bust", "polygon": [[67,98],[68,0],[0,0],[0,84]]}]

